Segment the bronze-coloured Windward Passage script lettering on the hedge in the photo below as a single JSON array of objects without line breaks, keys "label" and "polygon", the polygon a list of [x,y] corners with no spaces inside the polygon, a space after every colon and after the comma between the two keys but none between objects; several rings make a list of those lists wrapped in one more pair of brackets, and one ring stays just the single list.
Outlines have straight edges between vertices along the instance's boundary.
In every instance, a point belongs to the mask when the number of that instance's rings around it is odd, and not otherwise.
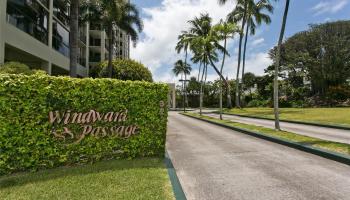
[{"label": "bronze-coloured Windward Passage script lettering on the hedge", "polygon": [[[95,110],[90,110],[86,113],[71,112],[70,110],[61,113],[60,111],[49,112],[49,122],[51,125],[63,124],[62,131],[53,129],[51,133],[57,138],[65,140],[68,136],[70,139],[76,139],[75,143],[80,143],[86,136],[91,135],[96,138],[103,138],[107,136],[129,138],[138,133],[136,125],[130,126],[111,126],[111,127],[94,127],[93,124],[97,122],[104,123],[120,123],[127,121],[128,110],[121,112],[99,113]],[[81,132],[74,134],[67,127],[70,124],[79,124]]]}]

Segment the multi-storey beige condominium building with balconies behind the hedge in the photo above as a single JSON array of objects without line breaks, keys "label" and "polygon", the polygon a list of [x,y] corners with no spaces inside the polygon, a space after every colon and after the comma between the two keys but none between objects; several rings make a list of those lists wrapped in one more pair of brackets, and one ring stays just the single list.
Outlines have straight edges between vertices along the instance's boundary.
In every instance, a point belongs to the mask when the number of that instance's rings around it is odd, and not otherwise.
[{"label": "multi-storey beige condominium building with balconies behind the hedge", "polygon": [[[0,0],[0,64],[18,61],[50,75],[69,74],[69,5],[65,0]],[[108,37],[100,25],[80,27],[77,74],[108,58]],[[116,31],[113,57],[129,58],[129,36]]]}]

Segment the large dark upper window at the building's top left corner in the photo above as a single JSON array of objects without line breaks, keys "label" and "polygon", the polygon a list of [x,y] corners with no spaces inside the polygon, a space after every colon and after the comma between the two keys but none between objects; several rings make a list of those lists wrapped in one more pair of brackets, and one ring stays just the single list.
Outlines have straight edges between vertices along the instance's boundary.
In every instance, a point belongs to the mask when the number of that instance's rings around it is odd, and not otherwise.
[{"label": "large dark upper window at the building's top left corner", "polygon": [[7,1],[7,21],[44,44],[48,43],[48,16],[35,0]]}]

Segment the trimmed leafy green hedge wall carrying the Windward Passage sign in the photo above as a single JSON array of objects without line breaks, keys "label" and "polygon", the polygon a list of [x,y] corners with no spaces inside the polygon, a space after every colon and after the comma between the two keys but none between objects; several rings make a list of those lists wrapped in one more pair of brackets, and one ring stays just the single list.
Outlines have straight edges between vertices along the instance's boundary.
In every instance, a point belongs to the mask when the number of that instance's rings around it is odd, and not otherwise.
[{"label": "trimmed leafy green hedge wall carrying the Windward Passage sign", "polygon": [[[139,81],[0,75],[0,174],[105,159],[163,156],[167,110],[160,102],[166,105],[167,93],[167,85]],[[107,131],[86,135],[80,142],[82,122],[65,125],[64,120],[60,124],[49,121],[50,111],[70,111],[73,116],[91,110],[101,116],[116,112],[127,119],[108,122],[109,118],[104,121],[102,116],[95,123],[87,123],[94,129],[106,127]],[[118,135],[118,128],[111,129],[120,126],[137,126],[137,134],[127,138]],[[64,127],[73,137],[62,134]]]}]

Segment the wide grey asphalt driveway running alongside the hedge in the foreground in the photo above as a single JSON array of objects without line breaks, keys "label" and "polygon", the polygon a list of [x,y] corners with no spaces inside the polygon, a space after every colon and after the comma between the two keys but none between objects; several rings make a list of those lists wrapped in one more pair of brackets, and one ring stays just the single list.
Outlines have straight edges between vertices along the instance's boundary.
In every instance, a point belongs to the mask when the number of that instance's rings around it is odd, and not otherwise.
[{"label": "wide grey asphalt driveway running alongside the hedge in the foreground", "polygon": [[167,150],[188,200],[350,199],[350,167],[169,113]]}]

